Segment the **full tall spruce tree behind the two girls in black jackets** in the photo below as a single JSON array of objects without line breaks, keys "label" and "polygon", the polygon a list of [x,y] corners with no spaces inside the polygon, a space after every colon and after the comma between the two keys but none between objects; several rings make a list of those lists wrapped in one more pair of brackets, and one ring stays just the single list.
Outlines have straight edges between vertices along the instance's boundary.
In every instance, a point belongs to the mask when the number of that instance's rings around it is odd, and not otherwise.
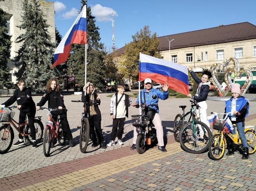
[{"label": "full tall spruce tree behind the two girls in black jackets", "polygon": [[22,42],[15,60],[20,66],[16,73],[18,79],[24,79],[28,87],[35,91],[44,91],[47,80],[56,76],[57,68],[50,69],[53,64],[53,47],[48,34],[49,25],[40,8],[38,0],[23,1],[22,24],[18,26],[25,30],[16,42]]}]

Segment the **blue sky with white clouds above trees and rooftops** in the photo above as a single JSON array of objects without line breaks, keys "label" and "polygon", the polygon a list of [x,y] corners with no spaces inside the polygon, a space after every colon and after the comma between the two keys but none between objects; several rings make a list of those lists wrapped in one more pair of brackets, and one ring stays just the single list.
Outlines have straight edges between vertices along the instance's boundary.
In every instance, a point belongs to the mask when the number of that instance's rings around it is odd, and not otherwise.
[{"label": "blue sky with white clouds above trees and rooftops", "polygon": [[[62,37],[72,26],[81,8],[80,0],[58,0],[55,24]],[[132,41],[132,35],[149,26],[158,37],[188,31],[249,22],[256,25],[256,0],[88,0],[101,42],[112,52],[112,12],[115,46]]]}]

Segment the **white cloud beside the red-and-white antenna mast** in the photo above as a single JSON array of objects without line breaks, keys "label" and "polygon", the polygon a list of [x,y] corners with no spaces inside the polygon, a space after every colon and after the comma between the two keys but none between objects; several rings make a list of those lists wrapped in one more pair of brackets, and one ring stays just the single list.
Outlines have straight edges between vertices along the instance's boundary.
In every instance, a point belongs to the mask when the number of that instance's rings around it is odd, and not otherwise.
[{"label": "white cloud beside the red-and-white antenna mast", "polygon": [[118,14],[112,8],[101,6],[100,4],[92,6],[91,11],[96,20],[100,22],[112,21],[112,12],[114,12],[114,16],[118,16]]}]

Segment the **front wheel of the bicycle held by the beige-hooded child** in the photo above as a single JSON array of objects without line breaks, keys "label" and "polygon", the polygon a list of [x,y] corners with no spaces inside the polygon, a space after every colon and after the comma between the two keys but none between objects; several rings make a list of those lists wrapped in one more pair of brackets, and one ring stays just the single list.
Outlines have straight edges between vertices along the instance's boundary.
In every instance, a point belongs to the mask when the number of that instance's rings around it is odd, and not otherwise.
[{"label": "front wheel of the bicycle held by the beige-hooded child", "polygon": [[90,134],[90,125],[88,118],[83,118],[82,120],[82,127],[80,129],[80,137],[79,137],[79,145],[80,151],[85,153],[88,141],[89,141],[89,134]]}]

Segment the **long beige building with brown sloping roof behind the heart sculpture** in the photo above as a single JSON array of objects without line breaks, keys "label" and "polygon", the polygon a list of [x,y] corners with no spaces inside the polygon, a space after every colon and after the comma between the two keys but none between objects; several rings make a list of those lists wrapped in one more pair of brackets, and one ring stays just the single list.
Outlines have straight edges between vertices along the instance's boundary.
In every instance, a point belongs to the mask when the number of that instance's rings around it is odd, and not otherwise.
[{"label": "long beige building with brown sloping roof behind the heart sculpture", "polygon": [[[191,68],[237,58],[241,68],[256,70],[256,26],[245,22],[158,37],[161,58]],[[174,39],[174,40],[173,40]],[[124,54],[125,47],[116,52]]]}]

